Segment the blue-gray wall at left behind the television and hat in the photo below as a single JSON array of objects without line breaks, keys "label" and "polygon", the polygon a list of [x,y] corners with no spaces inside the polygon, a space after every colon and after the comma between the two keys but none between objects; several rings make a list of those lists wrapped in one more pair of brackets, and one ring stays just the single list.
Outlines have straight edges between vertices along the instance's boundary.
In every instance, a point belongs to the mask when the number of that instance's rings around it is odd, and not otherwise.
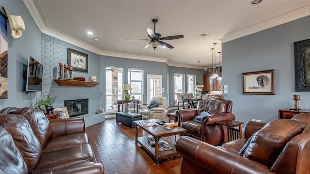
[{"label": "blue-gray wall at left behind the television and hat", "polygon": [[[41,62],[41,31],[36,26],[31,14],[22,0],[0,0],[11,15],[22,16],[25,30],[18,39],[13,39],[8,32],[8,100],[0,101],[0,108],[8,106],[30,106],[26,93],[22,92],[22,76],[24,64],[27,65],[28,55]],[[8,24],[8,23],[7,23]],[[40,95],[40,92],[36,92]],[[32,104],[35,104],[35,95],[32,94]]]}]

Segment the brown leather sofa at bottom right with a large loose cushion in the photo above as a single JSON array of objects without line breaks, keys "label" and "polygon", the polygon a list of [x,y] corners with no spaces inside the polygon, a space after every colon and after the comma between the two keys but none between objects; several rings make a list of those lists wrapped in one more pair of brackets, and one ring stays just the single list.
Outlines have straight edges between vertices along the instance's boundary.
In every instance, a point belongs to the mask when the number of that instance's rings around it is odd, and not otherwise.
[{"label": "brown leather sofa at bottom right with a large loose cushion", "polygon": [[181,174],[310,174],[310,114],[267,124],[249,121],[245,137],[220,148],[180,137]]}]

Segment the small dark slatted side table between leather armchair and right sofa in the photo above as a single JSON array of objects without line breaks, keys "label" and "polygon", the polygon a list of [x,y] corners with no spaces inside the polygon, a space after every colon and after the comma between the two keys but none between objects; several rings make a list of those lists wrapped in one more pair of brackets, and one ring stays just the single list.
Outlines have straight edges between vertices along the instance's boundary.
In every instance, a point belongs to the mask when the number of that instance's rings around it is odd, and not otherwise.
[{"label": "small dark slatted side table between leather armchair and right sofa", "polygon": [[[241,125],[243,124],[243,122],[235,121],[235,120],[222,120],[222,121],[217,121],[217,123],[227,126],[228,141],[233,141],[233,140],[242,138]],[[239,129],[235,129],[234,127],[239,127]]]}]

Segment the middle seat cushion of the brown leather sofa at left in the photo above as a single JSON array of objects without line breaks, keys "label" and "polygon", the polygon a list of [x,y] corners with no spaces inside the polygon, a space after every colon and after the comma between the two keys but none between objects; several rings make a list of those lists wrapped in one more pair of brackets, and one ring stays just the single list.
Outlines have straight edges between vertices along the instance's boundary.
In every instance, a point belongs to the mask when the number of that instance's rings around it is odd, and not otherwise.
[{"label": "middle seat cushion of the brown leather sofa at left", "polygon": [[93,161],[93,150],[89,144],[43,152],[33,174],[54,171],[87,161]]}]

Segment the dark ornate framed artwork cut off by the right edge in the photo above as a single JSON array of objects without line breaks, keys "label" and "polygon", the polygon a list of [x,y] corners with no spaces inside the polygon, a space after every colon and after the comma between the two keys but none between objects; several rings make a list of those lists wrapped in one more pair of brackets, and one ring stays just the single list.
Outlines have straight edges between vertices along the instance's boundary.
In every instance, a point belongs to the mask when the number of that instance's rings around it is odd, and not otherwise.
[{"label": "dark ornate framed artwork cut off by the right edge", "polygon": [[310,39],[294,42],[295,91],[310,91]]}]

